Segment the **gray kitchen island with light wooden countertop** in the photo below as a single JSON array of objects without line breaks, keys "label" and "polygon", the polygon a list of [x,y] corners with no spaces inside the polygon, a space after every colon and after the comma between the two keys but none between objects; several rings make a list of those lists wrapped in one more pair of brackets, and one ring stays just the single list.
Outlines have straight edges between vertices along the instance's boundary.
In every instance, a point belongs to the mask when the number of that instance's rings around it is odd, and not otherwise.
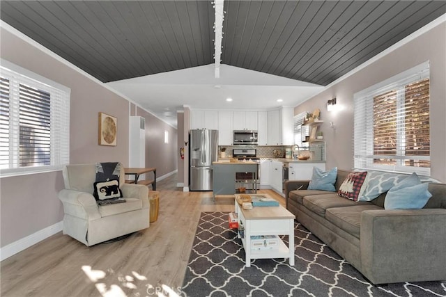
[{"label": "gray kitchen island with light wooden countertop", "polygon": [[250,172],[253,178],[245,183],[252,184],[254,193],[257,191],[257,183],[259,182],[258,173],[259,163],[253,161],[214,161],[213,168],[213,196],[216,195],[233,195],[236,193],[236,173]]}]

